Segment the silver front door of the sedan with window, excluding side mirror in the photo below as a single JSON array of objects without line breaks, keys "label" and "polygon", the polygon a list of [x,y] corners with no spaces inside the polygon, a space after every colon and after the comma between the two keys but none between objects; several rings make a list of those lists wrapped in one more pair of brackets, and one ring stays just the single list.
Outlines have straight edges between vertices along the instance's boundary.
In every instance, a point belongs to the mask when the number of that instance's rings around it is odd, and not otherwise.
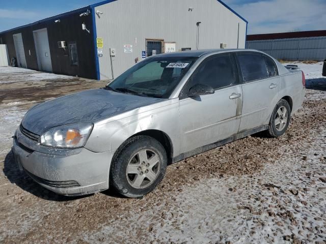
[{"label": "silver front door of the sedan with window, excluding side mirror", "polygon": [[[195,84],[214,88],[214,94],[188,97]],[[236,134],[242,107],[241,84],[230,53],[209,56],[194,71],[180,93],[181,153]]]}]

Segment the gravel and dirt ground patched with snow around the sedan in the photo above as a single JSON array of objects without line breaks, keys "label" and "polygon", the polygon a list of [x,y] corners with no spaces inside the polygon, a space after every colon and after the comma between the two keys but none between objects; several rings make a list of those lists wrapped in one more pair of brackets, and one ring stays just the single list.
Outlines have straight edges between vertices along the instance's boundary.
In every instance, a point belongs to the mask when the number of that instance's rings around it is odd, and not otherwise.
[{"label": "gravel and dirt ground patched with snow around the sedan", "polygon": [[0,69],[0,242],[326,243],[326,78],[320,63],[299,66],[307,95],[284,136],[253,135],[171,165],[143,199],[63,197],[20,172],[11,136],[26,109],[105,82]]}]

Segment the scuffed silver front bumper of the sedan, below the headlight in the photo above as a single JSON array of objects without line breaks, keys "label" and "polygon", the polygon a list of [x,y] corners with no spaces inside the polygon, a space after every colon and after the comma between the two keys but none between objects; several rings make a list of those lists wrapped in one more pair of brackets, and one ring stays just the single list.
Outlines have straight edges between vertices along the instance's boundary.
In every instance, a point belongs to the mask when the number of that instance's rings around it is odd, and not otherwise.
[{"label": "scuffed silver front bumper of the sedan, below the headlight", "polygon": [[44,151],[31,150],[24,143],[25,139],[14,138],[14,159],[19,168],[41,186],[67,196],[86,195],[108,189],[111,151],[94,153],[86,148],[79,148],[73,154],[61,153],[60,149],[55,151],[56,154],[47,154]]}]

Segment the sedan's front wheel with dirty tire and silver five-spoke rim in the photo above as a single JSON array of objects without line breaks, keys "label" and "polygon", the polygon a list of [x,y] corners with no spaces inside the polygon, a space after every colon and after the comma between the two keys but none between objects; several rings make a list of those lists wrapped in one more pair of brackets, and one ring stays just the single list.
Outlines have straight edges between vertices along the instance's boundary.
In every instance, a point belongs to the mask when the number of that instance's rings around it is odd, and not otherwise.
[{"label": "sedan's front wheel with dirty tire and silver five-spoke rim", "polygon": [[165,175],[168,164],[166,150],[152,137],[131,137],[116,155],[111,166],[110,185],[125,197],[145,196]]}]

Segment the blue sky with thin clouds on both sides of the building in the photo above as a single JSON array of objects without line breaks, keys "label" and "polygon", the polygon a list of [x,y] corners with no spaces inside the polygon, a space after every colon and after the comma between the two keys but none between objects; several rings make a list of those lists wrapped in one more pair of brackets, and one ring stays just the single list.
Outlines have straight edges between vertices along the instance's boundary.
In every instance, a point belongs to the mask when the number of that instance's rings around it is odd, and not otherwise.
[{"label": "blue sky with thin clouds on both sides of the building", "polygon": [[[0,32],[98,2],[100,0],[1,0]],[[224,2],[249,21],[248,34],[326,29],[326,0]]]}]

